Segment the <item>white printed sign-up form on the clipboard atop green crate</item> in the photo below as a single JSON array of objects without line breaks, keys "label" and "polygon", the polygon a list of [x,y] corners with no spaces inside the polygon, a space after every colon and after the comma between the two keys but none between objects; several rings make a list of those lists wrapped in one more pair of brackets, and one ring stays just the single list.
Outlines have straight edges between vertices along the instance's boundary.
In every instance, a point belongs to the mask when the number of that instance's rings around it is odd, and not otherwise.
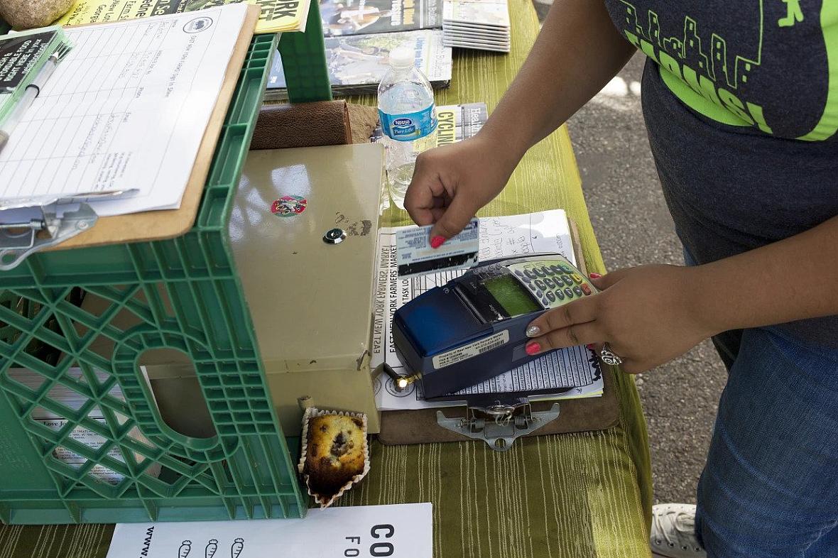
[{"label": "white printed sign-up form on the clipboard atop green crate", "polygon": [[67,29],[73,49],[0,151],[0,200],[132,191],[86,201],[100,217],[177,209],[248,8]]}]

